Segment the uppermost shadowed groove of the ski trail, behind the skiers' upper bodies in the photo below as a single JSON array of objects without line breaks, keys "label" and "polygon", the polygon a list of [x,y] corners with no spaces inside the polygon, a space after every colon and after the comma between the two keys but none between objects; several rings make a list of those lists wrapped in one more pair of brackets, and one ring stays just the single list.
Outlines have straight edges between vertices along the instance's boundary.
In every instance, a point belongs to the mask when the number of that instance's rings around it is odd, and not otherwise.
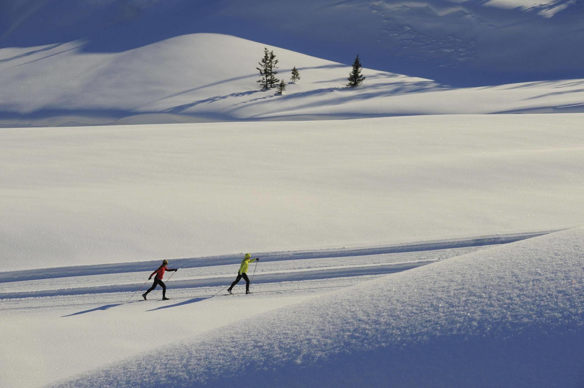
[{"label": "uppermost shadowed groove of the ski trail, behind the skiers' upper bodies", "polygon": [[[356,248],[340,248],[340,249],[323,249],[323,250],[300,250],[300,251],[275,251],[266,253],[254,253],[253,256],[262,257],[262,261],[281,261],[281,260],[301,260],[306,258],[327,258],[327,257],[350,257],[350,256],[366,256],[373,254],[385,253],[404,253],[426,250],[463,248],[472,246],[484,246],[492,244],[506,244],[519,240],[529,239],[541,235],[547,235],[552,232],[559,232],[559,230],[540,230],[536,232],[522,232],[522,233],[507,233],[491,236],[477,236],[463,239],[446,239],[446,240],[432,240],[426,242],[412,243],[412,244],[392,244],[387,246],[376,247],[356,247]],[[228,265],[237,263],[241,260],[242,253],[208,256],[208,257],[191,257],[191,258],[173,258],[173,267],[179,268],[195,268],[195,267],[210,267],[213,265]],[[98,265],[78,265],[74,267],[57,267],[57,268],[43,268],[38,270],[24,270],[0,272],[1,282],[16,282],[37,279],[53,279],[63,277],[85,276],[85,275],[102,275],[115,274],[121,272],[138,272],[151,271],[152,268],[158,267],[160,260],[139,261],[135,263],[114,263],[114,264],[98,264]],[[426,263],[427,264],[427,263]],[[200,283],[199,283],[200,284]],[[124,285],[134,286],[134,285]],[[118,288],[116,291],[119,291]],[[89,291],[91,292],[91,291]],[[59,295],[59,294],[55,294]],[[30,296],[30,295],[29,295]],[[3,298],[4,296],[0,296]]]}]

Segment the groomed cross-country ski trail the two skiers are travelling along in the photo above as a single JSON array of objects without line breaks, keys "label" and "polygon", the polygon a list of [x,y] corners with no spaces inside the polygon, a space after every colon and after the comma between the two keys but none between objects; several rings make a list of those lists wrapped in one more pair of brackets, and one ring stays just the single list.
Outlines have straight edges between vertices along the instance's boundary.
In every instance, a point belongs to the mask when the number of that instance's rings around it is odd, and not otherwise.
[{"label": "groomed cross-country ski trail the two skiers are travelling along", "polygon": [[[314,251],[256,253],[259,265],[250,266],[256,290],[263,292],[291,291],[294,282],[311,284],[315,288],[328,282],[334,287],[346,282],[364,281],[380,275],[401,272],[411,268],[460,256],[497,244],[506,244],[557,230],[507,233],[493,236],[465,237],[442,241],[394,244],[381,247],[357,247]],[[231,283],[242,255],[171,259],[169,268],[180,268],[167,287],[180,298],[209,298]],[[61,305],[58,301],[97,298],[109,303],[131,302],[141,299],[135,292],[148,279],[159,261],[86,265],[78,267],[47,268],[39,270],[0,272],[0,311]],[[253,269],[252,269],[253,268]],[[142,287],[148,288],[151,281]],[[245,284],[242,281],[242,284]],[[258,288],[260,287],[260,288]],[[157,291],[151,298],[157,298]],[[158,288],[159,292],[159,288]],[[176,299],[176,298],[175,298]],[[91,303],[91,302],[90,302]],[[97,304],[101,302],[95,302]],[[33,306],[34,305],[34,306]],[[74,306],[64,303],[62,306]]]}]

